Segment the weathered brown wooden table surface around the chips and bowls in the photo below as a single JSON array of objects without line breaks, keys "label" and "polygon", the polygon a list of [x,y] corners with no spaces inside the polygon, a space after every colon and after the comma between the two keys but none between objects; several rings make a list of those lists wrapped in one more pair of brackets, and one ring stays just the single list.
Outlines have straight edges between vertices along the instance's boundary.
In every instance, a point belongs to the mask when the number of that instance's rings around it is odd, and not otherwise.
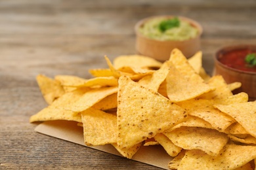
[{"label": "weathered brown wooden table surface around the chips and bowls", "polygon": [[161,14],[202,24],[207,73],[222,46],[256,44],[255,0],[1,0],[0,169],[158,169],[36,133],[29,118],[47,106],[36,75],[89,78],[104,55],[135,54],[135,23]]}]

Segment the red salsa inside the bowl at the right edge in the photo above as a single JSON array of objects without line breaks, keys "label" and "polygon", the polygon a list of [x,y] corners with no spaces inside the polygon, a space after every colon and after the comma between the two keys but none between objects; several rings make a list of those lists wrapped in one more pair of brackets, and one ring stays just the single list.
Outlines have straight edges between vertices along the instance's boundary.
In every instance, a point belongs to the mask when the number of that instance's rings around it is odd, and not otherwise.
[{"label": "red salsa inside the bowl at the right edge", "polygon": [[247,54],[255,53],[255,50],[250,49],[236,49],[224,52],[219,56],[219,61],[228,67],[238,69],[241,71],[256,72],[256,66],[249,65],[245,62]]}]

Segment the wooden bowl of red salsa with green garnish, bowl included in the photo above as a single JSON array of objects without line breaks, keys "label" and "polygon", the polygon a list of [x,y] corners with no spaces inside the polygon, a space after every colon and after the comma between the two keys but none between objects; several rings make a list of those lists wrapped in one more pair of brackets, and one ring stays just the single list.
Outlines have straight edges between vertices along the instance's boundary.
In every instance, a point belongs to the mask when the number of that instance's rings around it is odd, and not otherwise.
[{"label": "wooden bowl of red salsa with green garnish, bowl included", "polygon": [[245,92],[249,100],[256,99],[256,45],[226,46],[215,55],[214,75],[222,75],[227,83],[241,82],[238,92]]}]

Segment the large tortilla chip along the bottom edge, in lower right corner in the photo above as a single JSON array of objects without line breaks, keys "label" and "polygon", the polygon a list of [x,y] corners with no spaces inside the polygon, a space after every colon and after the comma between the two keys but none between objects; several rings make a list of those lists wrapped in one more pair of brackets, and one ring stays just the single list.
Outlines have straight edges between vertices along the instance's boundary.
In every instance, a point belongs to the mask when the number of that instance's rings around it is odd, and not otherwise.
[{"label": "large tortilla chip along the bottom edge, in lower right corner", "polygon": [[226,144],[218,156],[187,150],[179,169],[236,169],[256,158],[256,146]]}]

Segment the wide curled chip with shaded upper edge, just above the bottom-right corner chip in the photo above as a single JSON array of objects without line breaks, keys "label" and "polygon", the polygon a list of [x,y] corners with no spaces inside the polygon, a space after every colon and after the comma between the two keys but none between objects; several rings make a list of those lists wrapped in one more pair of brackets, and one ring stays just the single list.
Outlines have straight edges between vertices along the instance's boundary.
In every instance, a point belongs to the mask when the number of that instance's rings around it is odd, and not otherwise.
[{"label": "wide curled chip with shaded upper edge, just above the bottom-right corner chip", "polygon": [[202,127],[179,127],[164,134],[181,148],[200,149],[211,156],[217,156],[228,142],[226,134]]}]

